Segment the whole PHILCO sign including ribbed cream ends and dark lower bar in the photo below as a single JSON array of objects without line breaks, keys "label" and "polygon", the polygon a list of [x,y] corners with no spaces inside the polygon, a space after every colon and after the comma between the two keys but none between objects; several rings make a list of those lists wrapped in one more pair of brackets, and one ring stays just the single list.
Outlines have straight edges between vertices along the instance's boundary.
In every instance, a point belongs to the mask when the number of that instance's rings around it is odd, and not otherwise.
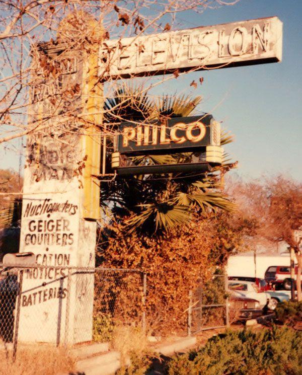
[{"label": "whole PHILCO sign including ribbed cream ends and dark lower bar", "polygon": [[[188,154],[182,161],[172,157],[165,164],[154,161],[154,155],[184,152]],[[136,163],[139,156],[143,156],[142,165]],[[119,175],[206,172],[221,164],[221,159],[220,123],[204,114],[154,123],[122,123],[112,168]]]}]

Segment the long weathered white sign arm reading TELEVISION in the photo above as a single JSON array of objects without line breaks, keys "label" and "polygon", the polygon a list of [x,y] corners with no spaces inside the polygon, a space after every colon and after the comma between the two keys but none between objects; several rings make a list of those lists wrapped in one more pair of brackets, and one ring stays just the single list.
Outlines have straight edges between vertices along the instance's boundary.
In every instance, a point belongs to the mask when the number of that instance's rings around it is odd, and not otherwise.
[{"label": "long weathered white sign arm reading TELEVISION", "polygon": [[277,17],[102,42],[98,76],[118,79],[164,72],[278,62]]}]

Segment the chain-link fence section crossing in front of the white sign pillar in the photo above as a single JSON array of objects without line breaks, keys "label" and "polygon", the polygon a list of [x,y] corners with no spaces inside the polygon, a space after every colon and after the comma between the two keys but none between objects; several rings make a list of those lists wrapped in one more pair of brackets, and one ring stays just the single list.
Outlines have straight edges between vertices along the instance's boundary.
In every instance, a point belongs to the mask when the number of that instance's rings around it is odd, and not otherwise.
[{"label": "chain-link fence section crossing in front of the white sign pillar", "polygon": [[117,325],[144,330],[146,276],[127,269],[0,264],[5,344],[108,341]]}]

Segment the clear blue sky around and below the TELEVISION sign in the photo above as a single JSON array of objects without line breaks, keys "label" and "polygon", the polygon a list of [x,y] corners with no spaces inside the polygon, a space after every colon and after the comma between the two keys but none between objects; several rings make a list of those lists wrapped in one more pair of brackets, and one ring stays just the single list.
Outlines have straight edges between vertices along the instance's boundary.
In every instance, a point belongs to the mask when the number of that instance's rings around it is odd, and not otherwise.
[{"label": "clear blue sky around and below the TELEVISION sign", "polygon": [[[282,62],[188,73],[160,89],[165,94],[182,91],[204,98],[200,110],[212,113],[235,135],[225,151],[239,162],[235,173],[244,179],[285,174],[302,182],[301,15],[301,0],[240,0],[201,14],[179,14],[180,28],[272,16],[283,22]],[[190,83],[200,77],[203,84],[194,90]],[[3,157],[0,168],[18,170],[19,158]]]}]

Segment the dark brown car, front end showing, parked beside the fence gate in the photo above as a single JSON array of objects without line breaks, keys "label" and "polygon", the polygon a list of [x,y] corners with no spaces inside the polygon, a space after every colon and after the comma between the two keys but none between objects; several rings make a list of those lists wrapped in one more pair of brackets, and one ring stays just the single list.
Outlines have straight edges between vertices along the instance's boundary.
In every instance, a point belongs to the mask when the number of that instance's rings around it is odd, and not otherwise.
[{"label": "dark brown car, front end showing, parked beside the fence gate", "polygon": [[255,318],[263,314],[263,309],[260,308],[260,302],[257,299],[235,295],[230,297],[230,310],[235,313],[236,319]]}]

